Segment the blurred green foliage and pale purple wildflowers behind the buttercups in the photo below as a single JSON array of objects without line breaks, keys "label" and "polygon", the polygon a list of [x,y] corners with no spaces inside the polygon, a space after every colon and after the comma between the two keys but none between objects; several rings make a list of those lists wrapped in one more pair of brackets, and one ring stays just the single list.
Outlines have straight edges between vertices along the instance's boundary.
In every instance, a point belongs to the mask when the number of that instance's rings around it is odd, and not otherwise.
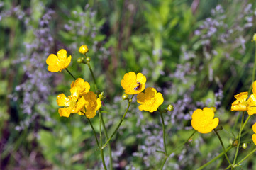
[{"label": "blurred green foliage and pale purple wildflowers behind the buttercups", "polygon": [[[126,109],[120,81],[142,72],[147,86],[160,91],[167,112],[169,153],[191,135],[191,113],[215,106],[228,146],[238,134],[233,96],[248,91],[255,62],[255,1],[96,0],[0,2],[0,169],[102,169],[87,120],[60,118],[56,96],[69,95],[67,72],[52,74],[45,63],[64,48],[69,70],[93,84],[77,64],[79,46],[89,47],[91,67],[106,99],[106,126],[113,132]],[[254,79],[254,78],[253,78]],[[91,85],[91,91],[94,87]],[[251,93],[251,92],[250,92]],[[99,132],[97,116],[91,120]],[[253,149],[252,116],[238,159]],[[111,142],[114,169],[159,169],[163,154],[157,113],[133,103]],[[221,153],[217,137],[197,134],[167,159],[164,169],[196,169]],[[230,157],[235,149],[228,153]],[[106,164],[109,163],[106,151]],[[206,169],[224,169],[223,157]],[[256,169],[253,156],[244,169]]]}]

